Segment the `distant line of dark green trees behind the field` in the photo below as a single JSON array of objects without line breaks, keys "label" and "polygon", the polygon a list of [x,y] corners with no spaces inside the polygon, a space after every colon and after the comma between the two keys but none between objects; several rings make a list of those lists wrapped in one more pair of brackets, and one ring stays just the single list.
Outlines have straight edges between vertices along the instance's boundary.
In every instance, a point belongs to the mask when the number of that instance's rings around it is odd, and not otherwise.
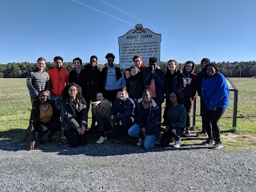
[{"label": "distant line of dark green trees behind the field", "polygon": [[[215,63],[215,62],[213,62]],[[83,63],[83,66],[89,63]],[[225,77],[256,77],[256,61],[241,61],[241,62],[218,62],[215,63],[219,68],[219,72],[221,72]],[[183,69],[185,63],[179,63],[179,68]],[[99,70],[102,70],[106,64],[97,64]],[[8,64],[0,64],[0,78],[25,78],[29,70],[33,70],[37,67],[36,63],[22,62],[22,63],[8,63]],[[160,67],[166,72],[167,62],[161,61]],[[46,70],[54,68],[53,62],[46,63]],[[74,68],[72,62],[64,62],[63,68],[70,72]],[[201,67],[200,64],[195,65],[195,74],[200,72]]]}]

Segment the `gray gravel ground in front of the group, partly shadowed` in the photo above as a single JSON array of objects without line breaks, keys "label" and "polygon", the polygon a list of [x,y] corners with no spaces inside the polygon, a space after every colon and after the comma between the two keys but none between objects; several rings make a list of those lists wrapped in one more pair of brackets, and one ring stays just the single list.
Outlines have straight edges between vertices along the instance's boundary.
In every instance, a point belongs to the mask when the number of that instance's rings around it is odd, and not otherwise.
[{"label": "gray gravel ground in front of the group, partly shadowed", "polygon": [[255,150],[0,140],[0,162],[0,191],[256,191]]}]

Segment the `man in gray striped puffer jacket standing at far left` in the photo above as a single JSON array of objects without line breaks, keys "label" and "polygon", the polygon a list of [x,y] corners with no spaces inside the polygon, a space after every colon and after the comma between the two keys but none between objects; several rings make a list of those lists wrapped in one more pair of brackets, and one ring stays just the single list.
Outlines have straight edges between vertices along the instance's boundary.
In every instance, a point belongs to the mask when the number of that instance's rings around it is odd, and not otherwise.
[{"label": "man in gray striped puffer jacket standing at far left", "polygon": [[30,70],[26,77],[26,83],[32,106],[33,102],[38,100],[40,91],[47,90],[47,92],[50,92],[51,90],[51,81],[49,74],[44,70],[45,66],[45,58],[38,58],[37,68]]}]

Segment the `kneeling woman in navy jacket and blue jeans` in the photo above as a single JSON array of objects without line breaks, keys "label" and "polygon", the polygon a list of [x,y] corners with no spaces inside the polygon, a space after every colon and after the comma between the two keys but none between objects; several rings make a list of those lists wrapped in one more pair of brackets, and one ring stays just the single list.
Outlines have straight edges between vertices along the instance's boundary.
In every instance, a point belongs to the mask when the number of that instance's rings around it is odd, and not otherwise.
[{"label": "kneeling woman in navy jacket and blue jeans", "polygon": [[145,88],[142,98],[134,100],[134,122],[128,130],[130,136],[139,138],[137,145],[143,145],[145,149],[153,148],[159,138],[159,116],[161,108],[152,99],[150,88]]}]

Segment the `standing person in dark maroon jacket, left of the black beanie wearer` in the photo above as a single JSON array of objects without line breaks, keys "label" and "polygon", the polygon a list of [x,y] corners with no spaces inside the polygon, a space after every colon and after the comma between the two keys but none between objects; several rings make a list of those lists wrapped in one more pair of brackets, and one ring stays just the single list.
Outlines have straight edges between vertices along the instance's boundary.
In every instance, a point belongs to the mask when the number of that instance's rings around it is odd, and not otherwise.
[{"label": "standing person in dark maroon jacket, left of the black beanie wearer", "polygon": [[183,68],[183,73],[185,74],[187,84],[184,90],[182,90],[184,94],[184,107],[187,111],[187,120],[186,120],[186,132],[185,136],[190,136],[190,124],[191,124],[191,106],[196,97],[196,88],[197,88],[197,77],[195,72],[195,63],[193,61],[187,61]]}]

